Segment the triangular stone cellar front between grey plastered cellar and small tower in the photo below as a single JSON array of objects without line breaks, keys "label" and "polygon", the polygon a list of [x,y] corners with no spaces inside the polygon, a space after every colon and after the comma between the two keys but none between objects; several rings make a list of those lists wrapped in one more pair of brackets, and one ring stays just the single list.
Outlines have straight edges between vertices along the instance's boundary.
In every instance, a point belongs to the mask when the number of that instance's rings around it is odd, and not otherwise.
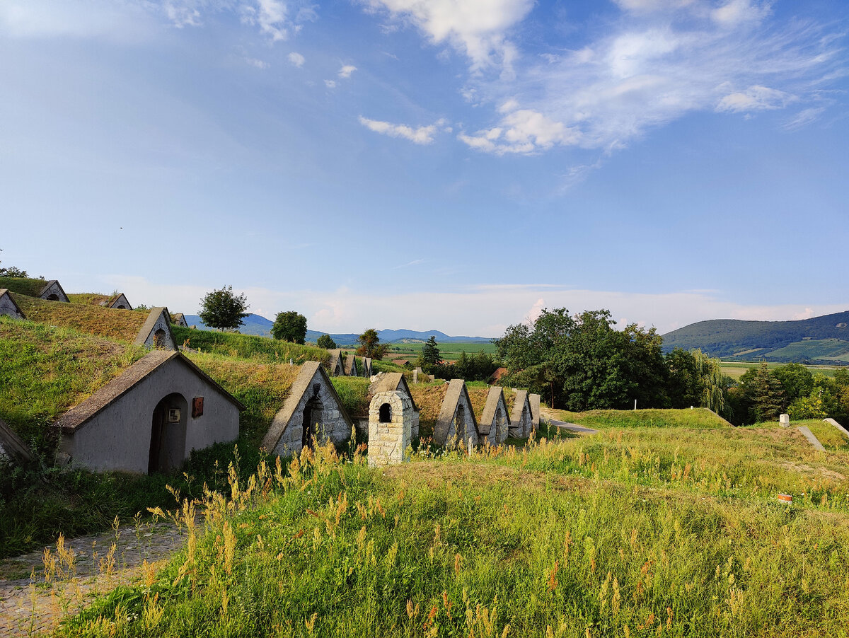
[{"label": "triangular stone cellar front between grey plastered cellar and small tower", "polygon": [[350,439],[352,427],[328,373],[318,361],[306,361],[262,446],[273,454],[289,456],[311,446],[314,438],[343,444]]}]

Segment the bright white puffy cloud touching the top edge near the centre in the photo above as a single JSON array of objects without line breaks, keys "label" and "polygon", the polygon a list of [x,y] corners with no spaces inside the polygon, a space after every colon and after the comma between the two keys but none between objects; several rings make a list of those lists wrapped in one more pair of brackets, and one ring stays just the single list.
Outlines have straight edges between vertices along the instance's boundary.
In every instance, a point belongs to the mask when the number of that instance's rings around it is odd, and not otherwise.
[{"label": "bright white puffy cloud touching the top edge near the centre", "polygon": [[411,23],[431,42],[447,42],[469,56],[474,70],[494,64],[509,70],[516,55],[507,31],[533,8],[533,0],[367,0],[391,19]]}]

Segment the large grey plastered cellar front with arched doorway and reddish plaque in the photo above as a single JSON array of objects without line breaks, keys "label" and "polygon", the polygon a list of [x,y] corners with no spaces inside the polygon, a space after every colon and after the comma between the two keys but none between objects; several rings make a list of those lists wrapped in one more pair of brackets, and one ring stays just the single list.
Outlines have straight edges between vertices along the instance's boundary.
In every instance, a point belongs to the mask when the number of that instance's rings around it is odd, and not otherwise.
[{"label": "large grey plastered cellar front with arched doorway and reddish plaque", "polygon": [[53,427],[74,467],[172,472],[191,451],[237,439],[242,409],[187,357],[154,350]]}]

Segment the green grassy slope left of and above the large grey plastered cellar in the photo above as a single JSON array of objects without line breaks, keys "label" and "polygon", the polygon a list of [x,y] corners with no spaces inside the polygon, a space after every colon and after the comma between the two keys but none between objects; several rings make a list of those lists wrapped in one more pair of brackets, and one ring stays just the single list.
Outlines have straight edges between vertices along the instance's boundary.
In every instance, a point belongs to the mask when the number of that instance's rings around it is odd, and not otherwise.
[{"label": "green grassy slope left of and above the large grey plastered cellar", "polygon": [[[20,304],[22,297],[16,299]],[[21,439],[48,451],[46,426],[146,352],[66,327],[0,316],[0,418]]]}]

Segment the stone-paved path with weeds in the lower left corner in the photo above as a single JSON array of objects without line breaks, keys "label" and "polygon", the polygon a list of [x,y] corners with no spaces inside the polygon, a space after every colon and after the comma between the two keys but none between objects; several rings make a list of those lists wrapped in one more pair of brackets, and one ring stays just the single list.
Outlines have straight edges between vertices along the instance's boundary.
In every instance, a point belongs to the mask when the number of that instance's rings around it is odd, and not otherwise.
[{"label": "stone-paved path with weeds in the lower left corner", "polygon": [[[163,565],[183,545],[184,533],[160,521],[65,540],[65,550],[73,551],[72,566],[66,560],[47,581],[43,552],[0,561],[0,636],[49,634],[61,618],[79,612],[98,594],[140,578],[145,561],[153,568]],[[57,557],[56,545],[49,548]]]}]

